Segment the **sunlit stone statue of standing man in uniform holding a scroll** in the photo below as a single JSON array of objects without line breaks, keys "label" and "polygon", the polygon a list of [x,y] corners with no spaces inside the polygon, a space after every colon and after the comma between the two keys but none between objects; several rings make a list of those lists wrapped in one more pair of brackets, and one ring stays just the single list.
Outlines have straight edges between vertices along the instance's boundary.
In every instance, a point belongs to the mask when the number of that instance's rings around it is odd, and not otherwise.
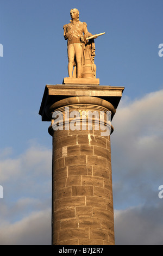
[{"label": "sunlit stone statue of standing man in uniform holding a scroll", "polygon": [[88,32],[86,23],[79,21],[77,9],[71,9],[70,16],[70,23],[64,25],[64,38],[67,40],[68,76],[96,78],[94,39],[105,33],[92,35]]}]

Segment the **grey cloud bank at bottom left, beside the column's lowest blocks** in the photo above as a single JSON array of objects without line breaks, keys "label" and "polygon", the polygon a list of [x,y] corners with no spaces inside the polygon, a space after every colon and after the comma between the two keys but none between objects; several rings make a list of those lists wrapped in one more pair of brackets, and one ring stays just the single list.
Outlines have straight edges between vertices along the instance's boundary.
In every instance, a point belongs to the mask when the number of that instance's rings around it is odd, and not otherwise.
[{"label": "grey cloud bank at bottom left, beside the column's lowest blocks", "polygon": [[0,245],[51,245],[51,209],[32,212],[1,227]]}]

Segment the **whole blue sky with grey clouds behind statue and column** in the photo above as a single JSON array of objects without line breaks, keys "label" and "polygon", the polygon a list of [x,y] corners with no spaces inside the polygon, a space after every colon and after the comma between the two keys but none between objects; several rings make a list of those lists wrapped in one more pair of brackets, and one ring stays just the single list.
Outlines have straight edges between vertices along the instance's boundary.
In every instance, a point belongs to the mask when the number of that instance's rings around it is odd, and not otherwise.
[{"label": "whole blue sky with grey clouds behind statue and column", "polygon": [[77,8],[89,32],[105,32],[95,41],[100,85],[125,87],[111,135],[116,244],[162,245],[162,0],[0,6],[0,244],[51,244],[52,138],[38,113],[46,84],[68,76],[62,27]]}]

